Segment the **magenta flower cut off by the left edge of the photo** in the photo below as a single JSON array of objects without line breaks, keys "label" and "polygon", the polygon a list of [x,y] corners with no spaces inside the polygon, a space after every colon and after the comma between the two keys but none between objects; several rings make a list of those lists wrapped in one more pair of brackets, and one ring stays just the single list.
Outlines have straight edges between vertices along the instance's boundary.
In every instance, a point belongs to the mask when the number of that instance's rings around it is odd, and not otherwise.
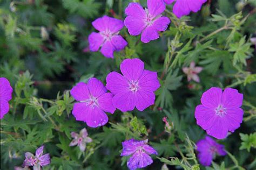
[{"label": "magenta flower cut off by the left edge of the photo", "polygon": [[4,78],[0,77],[0,119],[4,117],[9,111],[9,103],[12,96],[12,87],[10,82]]}]

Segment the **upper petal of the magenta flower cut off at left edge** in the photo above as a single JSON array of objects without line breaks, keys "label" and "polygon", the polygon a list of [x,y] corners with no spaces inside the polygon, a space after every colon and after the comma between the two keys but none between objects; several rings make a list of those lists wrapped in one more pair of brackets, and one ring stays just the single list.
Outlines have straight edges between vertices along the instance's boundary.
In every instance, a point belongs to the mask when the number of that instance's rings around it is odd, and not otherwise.
[{"label": "upper petal of the magenta flower cut off at left edge", "polygon": [[12,87],[8,79],[0,77],[0,100],[11,100]]}]

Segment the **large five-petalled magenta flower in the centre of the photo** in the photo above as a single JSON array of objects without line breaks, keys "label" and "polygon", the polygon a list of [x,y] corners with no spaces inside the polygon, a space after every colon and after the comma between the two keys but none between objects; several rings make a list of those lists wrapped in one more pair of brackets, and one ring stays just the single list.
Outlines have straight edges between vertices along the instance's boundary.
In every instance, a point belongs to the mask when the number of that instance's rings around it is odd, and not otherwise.
[{"label": "large five-petalled magenta flower in the centre of the photo", "polygon": [[160,87],[157,72],[144,69],[139,59],[126,59],[120,65],[123,75],[111,72],[106,77],[106,88],[114,95],[113,105],[125,112],[136,107],[143,111],[154,104],[154,91]]}]

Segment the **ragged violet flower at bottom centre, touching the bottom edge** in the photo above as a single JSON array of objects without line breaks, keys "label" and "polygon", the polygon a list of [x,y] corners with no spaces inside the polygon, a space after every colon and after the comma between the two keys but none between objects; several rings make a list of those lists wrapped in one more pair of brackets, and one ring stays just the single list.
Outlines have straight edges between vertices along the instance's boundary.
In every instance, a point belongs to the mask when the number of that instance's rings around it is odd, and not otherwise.
[{"label": "ragged violet flower at bottom centre, touching the bottom edge", "polygon": [[156,150],[150,145],[147,145],[147,140],[125,140],[122,142],[123,151],[121,156],[132,155],[127,161],[129,169],[144,168],[153,163],[151,154],[158,154]]}]

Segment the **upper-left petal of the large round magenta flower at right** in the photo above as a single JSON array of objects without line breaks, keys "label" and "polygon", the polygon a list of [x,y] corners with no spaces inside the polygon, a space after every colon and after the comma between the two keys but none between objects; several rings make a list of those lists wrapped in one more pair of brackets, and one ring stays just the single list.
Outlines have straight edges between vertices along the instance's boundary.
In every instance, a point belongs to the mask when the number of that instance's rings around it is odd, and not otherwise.
[{"label": "upper-left petal of the large round magenta flower at right", "polygon": [[204,107],[215,109],[221,103],[221,96],[221,88],[212,87],[203,93],[201,103]]}]

